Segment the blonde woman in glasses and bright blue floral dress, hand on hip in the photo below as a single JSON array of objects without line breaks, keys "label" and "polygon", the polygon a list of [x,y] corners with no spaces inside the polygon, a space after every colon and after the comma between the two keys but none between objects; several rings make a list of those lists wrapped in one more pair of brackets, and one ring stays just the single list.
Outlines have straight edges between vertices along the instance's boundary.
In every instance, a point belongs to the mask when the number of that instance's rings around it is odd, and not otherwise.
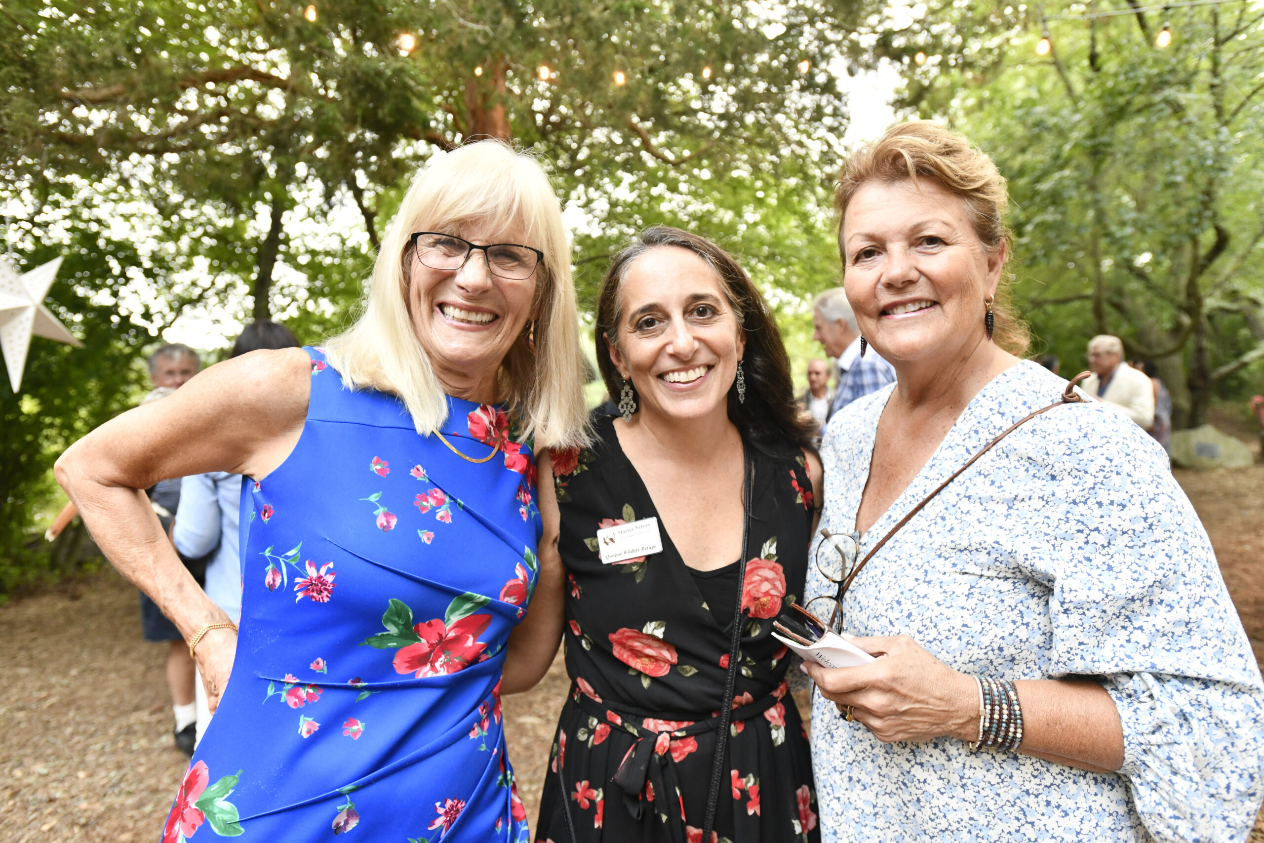
[{"label": "blonde woman in glasses and bright blue floral dress, hand on hip", "polygon": [[[67,450],[58,479],[219,707],[164,843],[526,839],[501,693],[551,656],[522,645],[561,576],[530,442],[584,441],[579,367],[557,200],[485,142],[422,171],[326,349],[221,363]],[[216,470],[246,475],[239,632],[137,492]]]}]

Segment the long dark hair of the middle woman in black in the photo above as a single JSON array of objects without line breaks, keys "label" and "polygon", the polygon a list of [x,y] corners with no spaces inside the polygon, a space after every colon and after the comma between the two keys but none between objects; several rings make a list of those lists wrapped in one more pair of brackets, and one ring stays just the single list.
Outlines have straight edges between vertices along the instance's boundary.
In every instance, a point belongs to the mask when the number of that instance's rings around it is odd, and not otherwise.
[{"label": "long dark hair of the middle woman in black", "polygon": [[813,437],[817,426],[800,413],[794,399],[790,359],[763,296],[731,254],[689,231],[665,225],[646,229],[632,245],[614,255],[605,270],[597,303],[595,330],[597,365],[605,389],[618,401],[623,388],[623,378],[611,361],[611,345],[607,340],[607,336],[619,335],[617,327],[623,316],[619,300],[623,279],[638,258],[661,246],[688,249],[715,270],[724,296],[737,313],[738,325],[746,332],[746,353],[742,356],[746,402],[737,399],[736,383],[728,389],[728,417],[742,439],[766,454],[785,452],[787,446],[815,451]]}]

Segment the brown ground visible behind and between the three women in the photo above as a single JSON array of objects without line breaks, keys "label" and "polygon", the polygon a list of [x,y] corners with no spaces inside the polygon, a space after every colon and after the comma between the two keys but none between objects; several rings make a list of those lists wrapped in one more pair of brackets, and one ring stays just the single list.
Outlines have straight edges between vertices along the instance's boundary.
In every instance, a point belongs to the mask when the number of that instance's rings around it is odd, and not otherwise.
[{"label": "brown ground visible behind and between the three women", "polygon": [[[1177,471],[1264,660],[1264,466]],[[140,640],[137,594],[112,571],[0,608],[0,840],[154,840],[185,770],[172,747],[163,648]],[[554,662],[508,696],[511,758],[532,824],[566,693]],[[1264,822],[1253,840],[1264,842]]]}]

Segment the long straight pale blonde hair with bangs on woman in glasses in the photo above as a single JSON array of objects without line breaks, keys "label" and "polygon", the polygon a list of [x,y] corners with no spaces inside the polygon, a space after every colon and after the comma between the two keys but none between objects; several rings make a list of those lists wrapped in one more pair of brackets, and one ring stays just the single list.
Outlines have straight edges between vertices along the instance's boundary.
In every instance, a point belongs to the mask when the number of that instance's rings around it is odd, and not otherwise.
[{"label": "long straight pale blonde hair with bangs on woman in glasses", "polygon": [[325,344],[330,364],[349,388],[398,396],[418,434],[439,430],[447,402],[413,327],[404,254],[413,231],[469,222],[502,230],[520,224],[526,243],[545,253],[531,315],[535,351],[523,334],[499,372],[501,399],[518,435],[533,437],[537,449],[586,444],[579,316],[561,206],[535,158],[499,140],[437,154],[417,173],[382,240],[363,315]]}]

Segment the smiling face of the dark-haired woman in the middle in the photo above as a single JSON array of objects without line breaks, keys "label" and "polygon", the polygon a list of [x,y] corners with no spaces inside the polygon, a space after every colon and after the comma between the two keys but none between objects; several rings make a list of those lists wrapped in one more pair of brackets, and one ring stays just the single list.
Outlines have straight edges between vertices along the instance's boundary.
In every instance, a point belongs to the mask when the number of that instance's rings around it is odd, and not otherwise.
[{"label": "smiling face of the dark-haired woman in the middle", "polygon": [[746,341],[719,273],[689,249],[656,246],[628,267],[619,300],[607,343],[637,403],[674,418],[727,408]]}]

